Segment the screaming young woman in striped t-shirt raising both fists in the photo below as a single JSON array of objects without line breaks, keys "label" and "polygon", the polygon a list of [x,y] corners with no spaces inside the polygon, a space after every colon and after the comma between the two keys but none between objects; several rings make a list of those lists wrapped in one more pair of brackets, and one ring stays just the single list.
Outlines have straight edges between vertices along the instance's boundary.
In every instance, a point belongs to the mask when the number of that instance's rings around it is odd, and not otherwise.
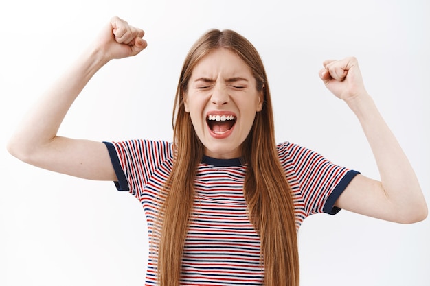
[{"label": "screaming young woman in striped t-shirt raising both fists", "polygon": [[297,230],[341,208],[393,222],[427,217],[418,180],[361,80],[355,58],[328,60],[321,80],[357,115],[381,182],[293,143],[275,143],[271,95],[256,49],[212,30],[185,58],[173,142],[93,142],[57,136],[73,100],[113,58],[146,47],[144,32],[111,19],[87,53],[10,139],[17,158],[52,171],[112,180],[148,221],[146,285],[299,285]]}]

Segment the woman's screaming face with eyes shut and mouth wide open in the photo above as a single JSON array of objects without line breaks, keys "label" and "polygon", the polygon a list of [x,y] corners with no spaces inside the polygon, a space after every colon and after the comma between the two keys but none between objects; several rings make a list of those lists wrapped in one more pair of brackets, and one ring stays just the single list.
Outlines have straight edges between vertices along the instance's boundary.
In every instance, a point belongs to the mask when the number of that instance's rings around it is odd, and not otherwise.
[{"label": "woman's screaming face with eyes shut and mouth wide open", "polygon": [[219,48],[196,64],[184,104],[205,155],[240,157],[262,97],[251,70],[236,53]]}]

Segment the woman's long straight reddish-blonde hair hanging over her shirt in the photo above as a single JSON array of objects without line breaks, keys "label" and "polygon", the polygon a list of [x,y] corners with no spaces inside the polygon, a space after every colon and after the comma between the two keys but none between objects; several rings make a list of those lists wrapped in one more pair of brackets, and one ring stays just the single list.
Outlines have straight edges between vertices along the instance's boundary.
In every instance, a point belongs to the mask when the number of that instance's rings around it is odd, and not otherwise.
[{"label": "woman's long straight reddish-blonde hair hanging over her shirt", "polygon": [[166,200],[157,227],[157,279],[159,285],[179,285],[181,261],[190,213],[194,204],[194,179],[203,156],[203,145],[185,112],[183,96],[188,91],[192,70],[201,58],[218,48],[234,51],[251,69],[256,88],[263,91],[262,110],[257,112],[247,139],[242,143],[242,160],[247,165],[244,195],[249,219],[261,242],[264,285],[298,286],[299,258],[291,191],[275,144],[273,112],[267,75],[255,47],[231,30],[210,30],[190,49],[185,58],[174,101],[175,157],[166,183]]}]

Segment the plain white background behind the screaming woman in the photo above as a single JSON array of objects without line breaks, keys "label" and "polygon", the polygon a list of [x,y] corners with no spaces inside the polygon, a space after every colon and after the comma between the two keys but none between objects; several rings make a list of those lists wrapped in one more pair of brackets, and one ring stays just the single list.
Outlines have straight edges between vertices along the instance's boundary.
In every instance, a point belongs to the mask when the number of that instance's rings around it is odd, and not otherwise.
[{"label": "plain white background behind the screaming woman", "polygon": [[[357,119],[318,78],[356,56],[367,91],[430,198],[428,1],[2,1],[0,6],[0,285],[143,285],[144,211],[112,182],[54,174],[5,143],[25,110],[111,16],[146,31],[148,48],[90,82],[60,134],[172,139],[171,109],[188,49],[212,27],[235,29],[266,65],[278,141],[305,145],[378,178]],[[430,219],[400,225],[347,211],[299,232],[302,286],[430,285]]]}]

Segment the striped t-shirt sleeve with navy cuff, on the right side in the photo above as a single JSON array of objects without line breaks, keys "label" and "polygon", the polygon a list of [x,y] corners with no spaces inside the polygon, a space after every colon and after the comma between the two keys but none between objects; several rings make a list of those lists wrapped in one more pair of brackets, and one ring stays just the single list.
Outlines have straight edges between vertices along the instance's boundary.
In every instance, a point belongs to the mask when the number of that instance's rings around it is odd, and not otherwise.
[{"label": "striped t-shirt sleeve with navy cuff, on the right side", "polygon": [[303,217],[315,213],[335,215],[335,202],[358,171],[330,162],[317,152],[293,143],[278,145],[280,162]]}]

